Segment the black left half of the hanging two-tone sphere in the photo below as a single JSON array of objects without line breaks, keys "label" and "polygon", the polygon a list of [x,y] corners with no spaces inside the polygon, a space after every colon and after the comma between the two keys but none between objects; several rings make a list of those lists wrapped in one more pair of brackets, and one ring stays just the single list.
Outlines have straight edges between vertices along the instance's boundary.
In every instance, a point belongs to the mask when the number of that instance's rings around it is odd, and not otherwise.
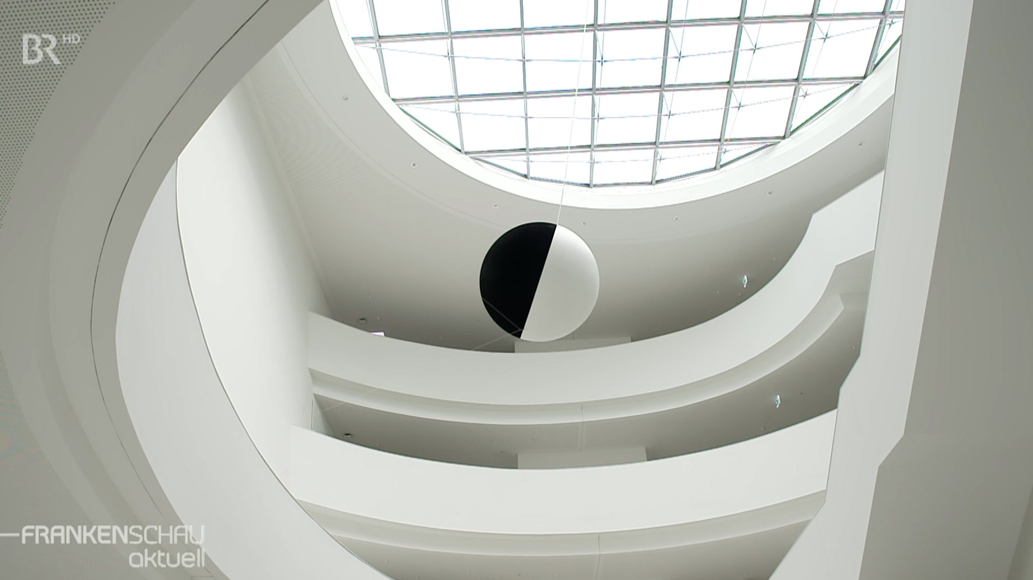
[{"label": "black left half of the hanging two-tone sphere", "polygon": [[480,298],[492,320],[516,336],[524,331],[545,267],[556,224],[532,222],[503,233],[480,265]]}]

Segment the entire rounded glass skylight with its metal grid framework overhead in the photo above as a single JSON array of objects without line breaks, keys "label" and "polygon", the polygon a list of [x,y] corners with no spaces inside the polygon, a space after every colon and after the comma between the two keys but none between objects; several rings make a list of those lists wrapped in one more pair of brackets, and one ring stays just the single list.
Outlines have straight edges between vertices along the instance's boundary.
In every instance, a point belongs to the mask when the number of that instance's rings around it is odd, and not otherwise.
[{"label": "entire rounded glass skylight with its metal grid framework overhead", "polygon": [[425,129],[587,187],[712,171],[788,137],[871,74],[904,18],[904,0],[337,2]]}]

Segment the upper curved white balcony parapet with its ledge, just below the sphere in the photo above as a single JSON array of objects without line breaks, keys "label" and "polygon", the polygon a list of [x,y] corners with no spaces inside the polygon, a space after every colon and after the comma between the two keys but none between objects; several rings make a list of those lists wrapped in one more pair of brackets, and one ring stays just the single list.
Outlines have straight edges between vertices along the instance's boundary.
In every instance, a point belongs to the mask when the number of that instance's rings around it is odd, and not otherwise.
[{"label": "upper curved white balcony parapet with its ledge, just below the sphere", "polygon": [[419,417],[456,420],[460,414],[449,406],[464,406],[463,416],[479,406],[492,408],[494,420],[504,413],[505,421],[538,423],[542,408],[552,408],[546,422],[581,421],[583,406],[593,412],[589,418],[606,419],[671,402],[636,408],[630,398],[679,391],[675,406],[684,406],[730,392],[786,364],[822,334],[843,311],[839,299],[823,296],[866,291],[867,276],[838,284],[835,272],[872,251],[880,191],[877,175],[817,212],[786,266],[750,299],[655,339],[569,352],[474,352],[372,336],[313,316],[309,366],[320,380],[317,392],[384,410],[389,400],[390,411]]}]

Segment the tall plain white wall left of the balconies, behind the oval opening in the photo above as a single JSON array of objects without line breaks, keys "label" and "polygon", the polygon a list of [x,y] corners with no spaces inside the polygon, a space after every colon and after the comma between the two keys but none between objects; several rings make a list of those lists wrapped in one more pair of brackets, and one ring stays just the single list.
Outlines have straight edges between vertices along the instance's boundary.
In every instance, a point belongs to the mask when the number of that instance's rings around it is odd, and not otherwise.
[{"label": "tall plain white wall left of the balconies, behind the oval opening", "polygon": [[205,340],[241,421],[283,479],[290,425],[312,421],[307,313],[330,307],[247,82],[177,166],[180,238]]}]

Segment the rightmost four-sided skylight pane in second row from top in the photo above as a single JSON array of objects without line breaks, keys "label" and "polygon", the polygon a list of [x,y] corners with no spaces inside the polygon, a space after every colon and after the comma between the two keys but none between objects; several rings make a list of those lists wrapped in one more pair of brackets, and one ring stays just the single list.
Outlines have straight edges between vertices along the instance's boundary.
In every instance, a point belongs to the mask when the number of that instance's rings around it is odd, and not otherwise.
[{"label": "rightmost four-sided skylight pane in second row from top", "polygon": [[864,76],[878,29],[878,20],[816,22],[804,76]]}]

